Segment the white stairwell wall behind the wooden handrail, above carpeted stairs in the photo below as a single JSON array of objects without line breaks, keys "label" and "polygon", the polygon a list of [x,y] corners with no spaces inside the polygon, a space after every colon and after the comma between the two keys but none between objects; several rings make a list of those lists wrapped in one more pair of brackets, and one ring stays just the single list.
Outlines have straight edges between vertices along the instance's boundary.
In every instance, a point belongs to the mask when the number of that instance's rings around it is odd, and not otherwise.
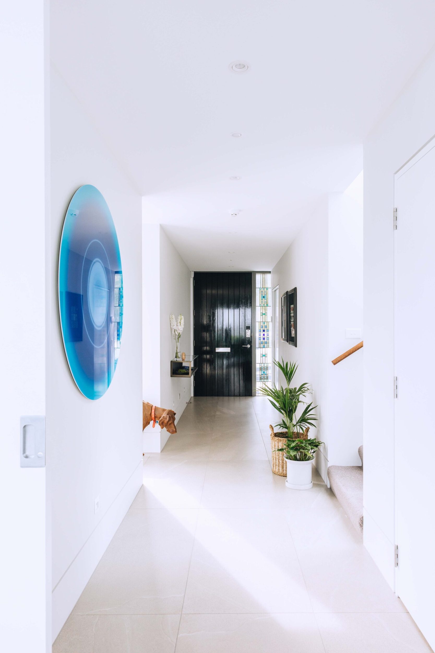
[{"label": "white stairwell wall behind the wooden handrail, above carpeted stairs", "polygon": [[331,360],[361,342],[346,328],[363,327],[363,175],[344,193],[329,195],[328,419],[330,465],[360,465],[363,444],[363,350],[337,365]]}]

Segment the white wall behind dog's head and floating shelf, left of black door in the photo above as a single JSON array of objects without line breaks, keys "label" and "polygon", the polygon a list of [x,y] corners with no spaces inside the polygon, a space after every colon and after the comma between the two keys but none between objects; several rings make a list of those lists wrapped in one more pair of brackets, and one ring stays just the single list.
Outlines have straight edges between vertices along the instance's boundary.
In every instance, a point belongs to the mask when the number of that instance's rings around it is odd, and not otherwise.
[{"label": "white wall behind dog's head and floating shelf, left of black door", "polygon": [[[192,379],[170,376],[175,354],[169,316],[185,318],[179,351],[192,350],[192,279],[190,270],[160,225],[147,223],[143,214],[143,401],[175,410],[180,419],[192,395]],[[143,451],[159,452],[169,434],[149,424],[143,432]]]}]

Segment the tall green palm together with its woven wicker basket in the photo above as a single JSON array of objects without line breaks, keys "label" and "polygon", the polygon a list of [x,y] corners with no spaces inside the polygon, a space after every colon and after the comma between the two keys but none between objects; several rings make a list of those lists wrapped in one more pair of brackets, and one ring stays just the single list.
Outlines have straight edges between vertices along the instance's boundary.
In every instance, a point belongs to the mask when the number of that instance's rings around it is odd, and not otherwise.
[{"label": "tall green palm together with its woven wicker basket", "polygon": [[[288,439],[308,439],[308,430],[314,426],[317,420],[314,413],[317,406],[312,402],[307,402],[307,395],[311,393],[308,383],[302,383],[299,387],[291,387],[293,377],[297,370],[296,363],[273,361],[277,368],[282,372],[286,384],[277,387],[263,386],[262,394],[267,396],[272,406],[280,413],[281,421],[275,424],[280,428],[275,432],[273,426],[271,429],[271,447],[272,447],[272,471],[278,476],[287,475],[287,458],[284,456],[284,448]],[[301,462],[301,461],[299,461]]]}]

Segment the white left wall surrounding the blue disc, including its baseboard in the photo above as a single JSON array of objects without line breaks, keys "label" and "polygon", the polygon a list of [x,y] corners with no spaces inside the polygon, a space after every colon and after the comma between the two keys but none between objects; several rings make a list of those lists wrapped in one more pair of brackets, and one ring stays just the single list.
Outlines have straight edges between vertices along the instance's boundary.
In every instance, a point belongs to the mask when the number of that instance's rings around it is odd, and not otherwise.
[{"label": "white left wall surrounding the blue disc, including its baseboard", "polygon": [[[140,195],[55,69],[51,130],[47,458],[55,637],[142,484],[142,208]],[[125,300],[117,370],[106,394],[95,402],[72,380],[57,311],[59,237],[68,202],[85,183],[101,191],[112,212]]]}]

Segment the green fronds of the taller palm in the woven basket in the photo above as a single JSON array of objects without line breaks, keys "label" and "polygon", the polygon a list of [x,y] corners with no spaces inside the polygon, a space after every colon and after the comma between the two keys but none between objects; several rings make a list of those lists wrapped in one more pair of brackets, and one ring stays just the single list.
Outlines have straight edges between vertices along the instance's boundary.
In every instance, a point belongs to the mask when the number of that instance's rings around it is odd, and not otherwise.
[{"label": "green fronds of the taller palm in the woven basket", "polygon": [[[302,383],[299,387],[290,387],[290,383],[292,383],[297,370],[296,363],[284,362],[284,358],[281,358],[281,362],[274,360],[273,363],[284,375],[286,386],[277,388],[274,383],[269,388],[265,385],[262,387],[262,394],[267,396],[269,402],[271,402],[272,406],[282,416],[281,421],[277,422],[275,426],[286,430],[288,438],[294,438],[297,434],[303,433],[307,427],[315,426],[314,421],[317,421],[317,417],[314,411],[317,406],[313,406],[312,402],[309,404],[305,402],[305,397],[311,393],[308,383]],[[303,407],[299,417],[297,417],[296,412],[300,405],[305,407]],[[301,458],[299,460],[303,459]]]}]

